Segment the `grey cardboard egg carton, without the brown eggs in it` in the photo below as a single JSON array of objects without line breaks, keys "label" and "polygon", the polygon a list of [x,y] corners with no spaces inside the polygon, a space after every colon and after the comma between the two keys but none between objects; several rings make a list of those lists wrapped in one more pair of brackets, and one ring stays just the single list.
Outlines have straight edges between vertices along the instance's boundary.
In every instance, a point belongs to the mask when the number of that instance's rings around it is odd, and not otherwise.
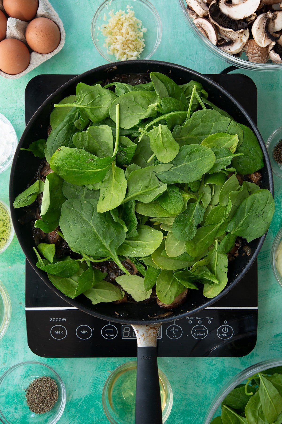
[{"label": "grey cardboard egg carton, without the brown eggs in it", "polygon": [[[46,60],[50,59],[55,54],[59,53],[59,51],[62,49],[63,45],[65,44],[66,32],[63,27],[63,22],[59,18],[59,15],[52,8],[48,0],[38,0],[38,3],[39,3],[39,6],[36,13],[36,18],[41,18],[41,17],[49,18],[57,24],[61,33],[60,44],[54,51],[47,54],[40,54],[40,53],[36,53],[32,51],[30,53],[30,64],[28,65],[27,69],[25,69],[23,72],[19,74],[10,75],[0,70],[0,75],[3,76],[4,78],[17,79],[22,77],[23,75],[32,71],[34,68],[38,67],[41,63],[45,62]],[[0,0],[0,10],[4,11],[3,0]],[[16,38],[22,41],[23,43],[25,43],[25,45],[27,45],[27,42],[25,39],[25,30],[26,30],[27,24],[28,22],[21,21],[19,19],[8,18],[6,38]],[[28,49],[30,50],[29,47]]]}]

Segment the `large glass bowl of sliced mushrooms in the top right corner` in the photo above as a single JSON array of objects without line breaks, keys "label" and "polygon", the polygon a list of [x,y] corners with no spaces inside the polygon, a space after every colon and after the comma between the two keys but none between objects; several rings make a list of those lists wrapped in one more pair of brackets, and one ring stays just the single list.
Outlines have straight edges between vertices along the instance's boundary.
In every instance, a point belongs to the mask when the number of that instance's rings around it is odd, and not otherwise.
[{"label": "large glass bowl of sliced mushrooms in the top right corner", "polygon": [[194,36],[235,66],[282,70],[281,0],[178,0]]}]

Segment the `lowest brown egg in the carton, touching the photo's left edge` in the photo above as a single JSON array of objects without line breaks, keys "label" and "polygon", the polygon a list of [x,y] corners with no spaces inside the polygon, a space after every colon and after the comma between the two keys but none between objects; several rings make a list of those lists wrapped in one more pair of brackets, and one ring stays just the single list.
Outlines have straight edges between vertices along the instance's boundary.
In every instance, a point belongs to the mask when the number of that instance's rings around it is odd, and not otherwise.
[{"label": "lowest brown egg in the carton, touching the photo's left edge", "polygon": [[0,70],[6,74],[19,74],[30,62],[27,46],[15,38],[6,38],[0,42]]}]

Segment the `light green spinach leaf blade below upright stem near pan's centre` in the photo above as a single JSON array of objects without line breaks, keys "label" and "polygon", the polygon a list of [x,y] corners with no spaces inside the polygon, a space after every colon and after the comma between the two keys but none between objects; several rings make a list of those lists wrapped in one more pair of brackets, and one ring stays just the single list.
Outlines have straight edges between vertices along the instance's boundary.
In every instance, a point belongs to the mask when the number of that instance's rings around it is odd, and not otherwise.
[{"label": "light green spinach leaf blade below upright stem near pan's centre", "polygon": [[121,204],[126,194],[127,182],[124,170],[114,162],[101,182],[97,212],[107,212]]}]

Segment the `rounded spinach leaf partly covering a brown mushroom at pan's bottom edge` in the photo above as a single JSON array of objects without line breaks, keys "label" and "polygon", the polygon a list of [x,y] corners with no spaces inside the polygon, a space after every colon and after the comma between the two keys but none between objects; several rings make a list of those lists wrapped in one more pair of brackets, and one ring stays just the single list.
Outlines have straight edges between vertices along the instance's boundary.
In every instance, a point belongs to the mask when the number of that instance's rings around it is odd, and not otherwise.
[{"label": "rounded spinach leaf partly covering a brown mushroom at pan's bottom edge", "polygon": [[171,304],[185,287],[179,282],[172,271],[162,270],[156,282],[156,295],[164,304]]}]

